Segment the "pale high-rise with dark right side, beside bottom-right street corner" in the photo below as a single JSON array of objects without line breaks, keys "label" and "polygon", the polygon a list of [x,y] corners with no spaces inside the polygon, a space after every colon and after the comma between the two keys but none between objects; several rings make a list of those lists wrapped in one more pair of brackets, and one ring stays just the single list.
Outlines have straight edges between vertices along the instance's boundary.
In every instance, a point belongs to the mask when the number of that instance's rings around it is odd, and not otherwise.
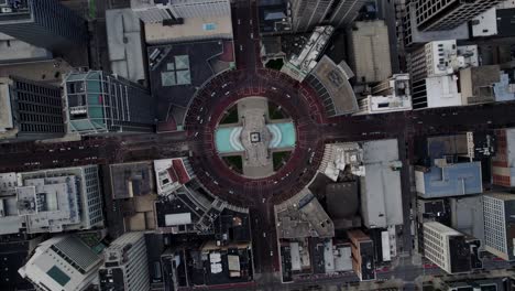
[{"label": "pale high-rise with dark right side, beside bottom-right street corner", "polygon": [[424,256],[448,273],[472,268],[465,236],[437,222],[424,224]]}]

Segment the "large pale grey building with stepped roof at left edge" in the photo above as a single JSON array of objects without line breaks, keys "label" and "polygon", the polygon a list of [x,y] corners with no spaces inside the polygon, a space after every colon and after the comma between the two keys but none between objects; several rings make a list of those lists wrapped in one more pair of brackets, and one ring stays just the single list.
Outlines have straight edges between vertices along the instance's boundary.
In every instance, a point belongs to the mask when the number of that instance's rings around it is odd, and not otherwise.
[{"label": "large pale grey building with stepped roof at left edge", "polygon": [[0,234],[102,226],[97,165],[0,174]]}]

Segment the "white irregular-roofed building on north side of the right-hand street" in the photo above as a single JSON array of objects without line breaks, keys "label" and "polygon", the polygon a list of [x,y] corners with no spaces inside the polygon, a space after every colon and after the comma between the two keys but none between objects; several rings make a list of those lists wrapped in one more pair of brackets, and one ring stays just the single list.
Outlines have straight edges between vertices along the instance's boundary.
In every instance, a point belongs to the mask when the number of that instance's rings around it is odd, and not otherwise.
[{"label": "white irregular-roofed building on north side of the right-hand street", "polygon": [[371,95],[360,99],[354,115],[375,115],[412,110],[409,75],[396,74],[372,87]]}]

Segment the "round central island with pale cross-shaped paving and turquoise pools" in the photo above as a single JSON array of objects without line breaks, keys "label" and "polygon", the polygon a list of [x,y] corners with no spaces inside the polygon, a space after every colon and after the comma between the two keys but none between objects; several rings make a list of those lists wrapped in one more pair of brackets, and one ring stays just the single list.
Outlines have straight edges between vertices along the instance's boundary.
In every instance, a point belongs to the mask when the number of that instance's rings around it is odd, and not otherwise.
[{"label": "round central island with pale cross-shaped paving and turquoise pools", "polygon": [[246,97],[230,106],[215,129],[215,148],[224,164],[249,179],[283,168],[295,150],[289,115],[265,97]]}]

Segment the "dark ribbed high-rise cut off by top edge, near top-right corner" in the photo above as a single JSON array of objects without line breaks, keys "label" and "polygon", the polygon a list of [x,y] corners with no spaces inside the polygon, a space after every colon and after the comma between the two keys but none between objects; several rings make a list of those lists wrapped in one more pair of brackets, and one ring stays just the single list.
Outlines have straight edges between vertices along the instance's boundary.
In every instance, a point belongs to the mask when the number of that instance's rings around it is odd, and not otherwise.
[{"label": "dark ribbed high-rise cut off by top edge, near top-right corner", "polygon": [[417,26],[421,31],[451,30],[498,2],[501,0],[418,0],[415,2]]}]

